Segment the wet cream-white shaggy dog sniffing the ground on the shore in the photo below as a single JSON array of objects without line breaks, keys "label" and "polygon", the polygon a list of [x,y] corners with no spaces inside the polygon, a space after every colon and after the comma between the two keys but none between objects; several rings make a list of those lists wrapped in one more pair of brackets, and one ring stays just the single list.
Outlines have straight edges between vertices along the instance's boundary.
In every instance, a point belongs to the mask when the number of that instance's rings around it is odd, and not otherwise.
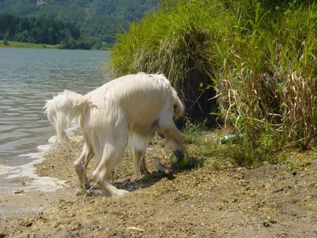
[{"label": "wet cream-white shaggy dog sniffing the ground on the shore", "polygon": [[119,165],[129,146],[136,175],[147,172],[143,156],[155,132],[166,138],[166,146],[175,150],[178,158],[184,155],[182,135],[174,123],[183,104],[164,75],[127,75],[84,96],[65,90],[44,108],[58,138],[69,146],[64,130],[80,116],[85,143],[74,163],[80,187],[89,186],[85,168],[95,156],[99,165],[93,177],[101,189],[112,197],[128,193],[110,184],[111,169]]}]

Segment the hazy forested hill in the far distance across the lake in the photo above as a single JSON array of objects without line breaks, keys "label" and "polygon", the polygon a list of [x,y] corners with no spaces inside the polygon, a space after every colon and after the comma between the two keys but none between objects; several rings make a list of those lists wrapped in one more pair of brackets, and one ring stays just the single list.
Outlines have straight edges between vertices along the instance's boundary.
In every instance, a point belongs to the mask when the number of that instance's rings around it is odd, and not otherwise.
[{"label": "hazy forested hill in the far distance across the lake", "polygon": [[112,44],[118,28],[156,11],[158,0],[0,0],[0,14],[63,20],[91,37]]}]

